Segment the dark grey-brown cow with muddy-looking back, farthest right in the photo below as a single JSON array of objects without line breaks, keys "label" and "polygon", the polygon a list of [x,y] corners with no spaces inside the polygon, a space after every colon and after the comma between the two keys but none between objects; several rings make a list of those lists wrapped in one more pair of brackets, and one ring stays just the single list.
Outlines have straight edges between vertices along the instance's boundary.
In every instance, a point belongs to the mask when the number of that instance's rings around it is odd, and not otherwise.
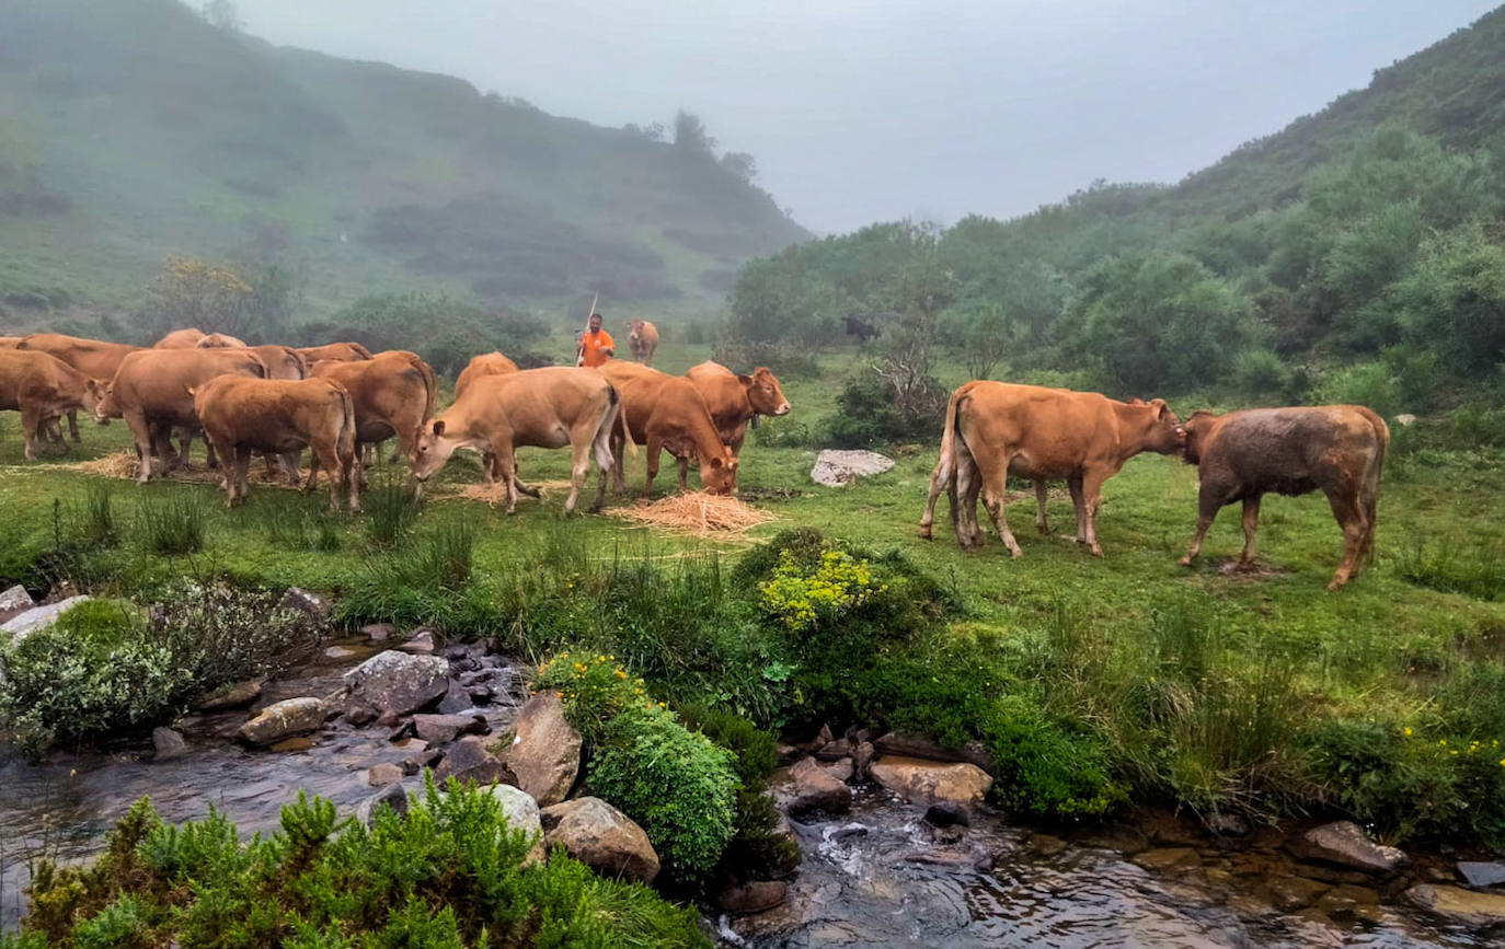
[{"label": "dark grey-brown cow with muddy-looking back, farthest right", "polygon": [[1180,427],[1181,457],[1196,465],[1196,534],[1181,558],[1189,565],[1225,504],[1243,501],[1243,553],[1239,568],[1254,564],[1254,531],[1266,493],[1327,495],[1342,528],[1342,561],[1327,590],[1359,575],[1374,550],[1380,469],[1391,444],[1385,420],[1354,405],[1246,409],[1213,415],[1195,412]]}]

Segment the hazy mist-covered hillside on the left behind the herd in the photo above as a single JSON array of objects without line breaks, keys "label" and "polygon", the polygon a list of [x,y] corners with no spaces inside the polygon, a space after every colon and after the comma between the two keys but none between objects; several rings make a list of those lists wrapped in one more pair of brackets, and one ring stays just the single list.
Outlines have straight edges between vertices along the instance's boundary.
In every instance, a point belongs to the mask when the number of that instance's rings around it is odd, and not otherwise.
[{"label": "hazy mist-covered hillside on the left behind the herd", "polygon": [[703,311],[808,236],[707,150],[176,0],[0,5],[0,323],[129,308],[170,254],[293,268],[306,316],[403,290]]}]

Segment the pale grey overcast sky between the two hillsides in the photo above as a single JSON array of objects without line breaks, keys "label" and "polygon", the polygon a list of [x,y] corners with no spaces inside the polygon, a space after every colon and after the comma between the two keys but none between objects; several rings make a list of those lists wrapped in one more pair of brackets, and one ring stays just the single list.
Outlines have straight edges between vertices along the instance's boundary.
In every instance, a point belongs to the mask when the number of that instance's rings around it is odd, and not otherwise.
[{"label": "pale grey overcast sky between the two hillsides", "polygon": [[1177,180],[1493,0],[238,0],[277,44],[620,126],[701,116],[817,232]]}]

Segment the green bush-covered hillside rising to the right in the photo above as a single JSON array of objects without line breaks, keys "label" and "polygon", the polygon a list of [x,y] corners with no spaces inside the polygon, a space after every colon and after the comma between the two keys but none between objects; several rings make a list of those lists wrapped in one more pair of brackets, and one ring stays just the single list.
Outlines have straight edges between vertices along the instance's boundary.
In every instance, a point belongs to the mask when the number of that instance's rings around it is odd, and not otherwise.
[{"label": "green bush-covered hillside rising to the right", "polygon": [[1505,390],[1502,51],[1505,8],[1180,183],[787,248],[743,268],[733,329],[814,344],[895,313],[886,338],[938,335],[975,374],[1123,394]]}]

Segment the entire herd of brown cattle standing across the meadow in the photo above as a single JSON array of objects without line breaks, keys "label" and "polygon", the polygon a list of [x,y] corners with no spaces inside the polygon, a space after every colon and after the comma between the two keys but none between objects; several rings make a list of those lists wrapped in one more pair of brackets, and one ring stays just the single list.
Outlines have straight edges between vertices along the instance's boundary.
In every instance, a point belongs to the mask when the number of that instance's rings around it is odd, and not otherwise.
[{"label": "entire herd of brown cattle standing across the meadow", "polygon": [[[691,459],[710,493],[737,487],[737,465],[749,421],[784,415],[789,400],[768,368],[739,376],[701,362],[685,376],[647,365],[658,344],[652,323],[632,326],[632,350],[643,364],[620,359],[599,368],[519,370],[500,352],[470,361],[455,384],[455,400],[436,412],[433,370],[415,353],[372,353],[358,343],[315,347],[247,346],[197,329],[170,332],[152,347],[60,334],[0,337],[0,409],[21,412],[26,457],[38,439],[62,441],[68,418],[78,441],[77,411],[99,423],[123,418],[140,457],[138,480],[187,465],[196,432],[224,460],[226,504],[245,498],[254,453],[298,483],[299,457],[310,450],[304,490],[330,472],[330,502],[349,495],[360,507],[363,448],[396,438],[421,486],[456,450],[479,453],[488,483],[506,489],[507,511],[518,493],[537,490],[518,478],[519,447],[572,453],[566,513],[597,468],[591,510],[607,478],[625,490],[623,454],[646,447],[644,496],[653,489],[662,451],[679,465],[686,487]],[[178,438],[175,447],[172,439]],[[1323,490],[1344,535],[1342,561],[1329,584],[1336,590],[1361,570],[1374,544],[1380,469],[1389,445],[1385,421],[1362,406],[1196,412],[1184,423],[1160,399],[1117,402],[1097,393],[974,381],[960,387],[945,412],[941,457],[920,523],[929,538],[942,492],[951,502],[957,543],[981,543],[981,499],[1013,556],[1019,543],[1004,516],[1007,477],[1035,483],[1037,517],[1046,523],[1046,481],[1064,480],[1076,508],[1076,540],[1094,555],[1103,483],[1141,451],[1178,454],[1199,468],[1199,516],[1183,564],[1219,508],[1243,502],[1245,547],[1254,558],[1260,499],[1266,493]]]}]

